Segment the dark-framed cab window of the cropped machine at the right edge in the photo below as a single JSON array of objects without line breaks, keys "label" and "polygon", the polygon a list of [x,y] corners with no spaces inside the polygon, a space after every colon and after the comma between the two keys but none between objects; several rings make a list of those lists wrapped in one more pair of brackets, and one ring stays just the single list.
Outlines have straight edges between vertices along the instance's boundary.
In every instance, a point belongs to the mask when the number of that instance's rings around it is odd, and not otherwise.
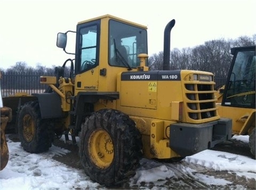
[{"label": "dark-framed cab window of the cropped machine at the right edge", "polygon": [[230,75],[225,105],[255,107],[255,52],[239,51]]}]

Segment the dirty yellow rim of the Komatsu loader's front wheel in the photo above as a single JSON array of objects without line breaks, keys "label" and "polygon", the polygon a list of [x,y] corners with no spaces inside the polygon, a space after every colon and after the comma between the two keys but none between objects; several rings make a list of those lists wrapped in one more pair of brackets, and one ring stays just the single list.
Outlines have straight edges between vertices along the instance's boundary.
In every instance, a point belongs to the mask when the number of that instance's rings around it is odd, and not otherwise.
[{"label": "dirty yellow rim of the Komatsu loader's front wheel", "polygon": [[23,119],[23,137],[27,142],[31,142],[35,135],[35,122],[33,118],[26,114]]}]

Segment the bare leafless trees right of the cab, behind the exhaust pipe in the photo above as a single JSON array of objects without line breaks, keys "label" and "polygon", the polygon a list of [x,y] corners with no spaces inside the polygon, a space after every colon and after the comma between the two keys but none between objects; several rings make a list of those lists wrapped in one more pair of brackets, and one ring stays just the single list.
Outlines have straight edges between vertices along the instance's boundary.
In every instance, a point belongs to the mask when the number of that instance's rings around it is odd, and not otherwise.
[{"label": "bare leafless trees right of the cab, behind the exhaust pipe", "polygon": [[[235,40],[210,40],[192,48],[174,48],[170,53],[170,69],[207,71],[213,73],[215,79],[226,78],[232,59],[230,48],[255,44],[256,34],[252,37],[241,36]],[[163,51],[150,56],[148,62],[150,70],[162,70]]]}]

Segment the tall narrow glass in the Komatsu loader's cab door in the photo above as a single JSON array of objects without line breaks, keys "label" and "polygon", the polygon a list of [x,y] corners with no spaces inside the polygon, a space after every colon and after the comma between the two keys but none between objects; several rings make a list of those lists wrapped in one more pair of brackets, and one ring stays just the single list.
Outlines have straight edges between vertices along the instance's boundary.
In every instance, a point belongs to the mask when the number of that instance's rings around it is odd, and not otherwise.
[{"label": "tall narrow glass in the Komatsu loader's cab door", "polygon": [[80,71],[94,67],[97,53],[97,25],[85,27],[80,30],[81,60],[79,62]]}]

